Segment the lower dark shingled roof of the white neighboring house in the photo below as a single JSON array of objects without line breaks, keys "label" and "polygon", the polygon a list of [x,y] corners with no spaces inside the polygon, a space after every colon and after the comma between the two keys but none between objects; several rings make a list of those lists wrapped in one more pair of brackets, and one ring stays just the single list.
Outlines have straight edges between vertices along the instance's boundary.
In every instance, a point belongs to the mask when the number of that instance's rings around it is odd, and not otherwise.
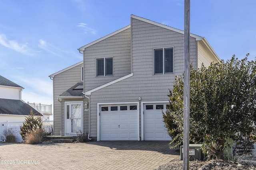
[{"label": "lower dark shingled roof of the white neighboring house", "polygon": [[29,115],[30,109],[33,110],[34,115],[42,116],[36,109],[22,100],[0,99],[0,115]]}]

